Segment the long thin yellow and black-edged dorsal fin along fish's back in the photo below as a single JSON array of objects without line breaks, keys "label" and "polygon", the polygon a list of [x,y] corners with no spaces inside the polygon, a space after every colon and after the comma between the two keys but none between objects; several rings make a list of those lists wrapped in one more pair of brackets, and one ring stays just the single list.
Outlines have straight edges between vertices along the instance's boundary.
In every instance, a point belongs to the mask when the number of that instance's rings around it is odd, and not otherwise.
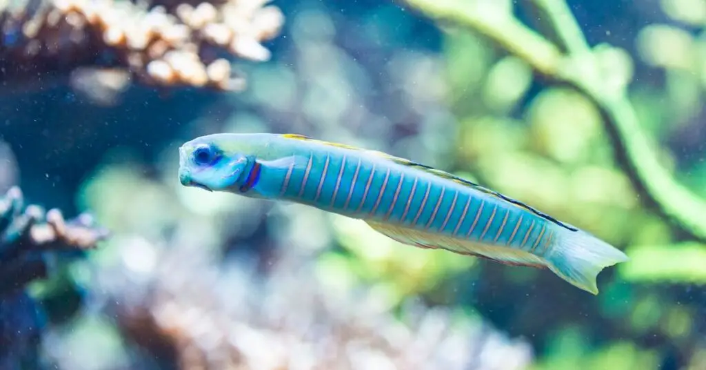
[{"label": "long thin yellow and black-edged dorsal fin along fish's back", "polygon": [[551,221],[551,222],[553,222],[554,224],[557,224],[558,226],[563,227],[564,229],[568,229],[568,230],[570,230],[570,231],[578,231],[578,229],[576,229],[575,227],[570,226],[570,225],[568,225],[568,224],[564,224],[563,222],[561,222],[561,221],[555,219],[554,217],[549,216],[549,214],[545,214],[544,212],[541,212],[541,211],[539,211],[538,209],[534,209],[533,207],[530,207],[529,205],[527,205],[527,204],[525,204],[525,203],[522,203],[522,202],[520,202],[519,200],[515,200],[515,199],[513,199],[513,198],[510,198],[510,197],[508,197],[508,196],[506,196],[506,195],[503,195],[503,194],[501,194],[501,193],[499,193],[499,192],[490,190],[490,189],[488,189],[487,187],[483,187],[483,186],[478,185],[478,184],[476,184],[476,183],[472,183],[472,182],[470,182],[469,180],[465,180],[465,179],[460,178],[460,177],[458,177],[458,176],[456,176],[456,175],[453,175],[453,174],[451,174],[451,173],[448,173],[448,172],[446,172],[446,171],[444,171],[444,170],[439,170],[439,169],[437,169],[437,168],[433,168],[433,167],[430,167],[430,166],[426,166],[426,165],[421,164],[421,163],[417,163],[417,162],[414,162],[414,161],[409,161],[409,159],[405,159],[405,158],[400,158],[400,157],[392,156],[392,155],[387,154],[387,153],[384,153],[384,152],[382,152],[382,151],[375,151],[375,150],[370,150],[370,149],[361,149],[361,148],[358,148],[358,147],[356,147],[356,146],[350,146],[350,145],[346,145],[346,144],[333,143],[333,142],[330,142],[330,141],[323,141],[323,140],[311,139],[311,137],[306,137],[306,136],[300,135],[300,134],[283,134],[282,136],[283,136],[283,137],[287,137],[288,139],[297,139],[297,140],[305,140],[305,141],[314,141],[314,142],[316,142],[316,143],[318,143],[318,144],[329,145],[329,146],[337,146],[337,147],[339,147],[339,148],[351,149],[351,150],[355,150],[355,151],[364,151],[364,152],[366,152],[367,154],[371,154],[371,155],[373,155],[373,156],[379,156],[379,157],[382,157],[382,158],[386,158],[386,159],[388,159],[388,160],[390,160],[390,161],[393,161],[393,162],[395,162],[395,163],[397,163],[397,164],[399,164],[399,165],[401,165],[401,166],[407,166],[407,167],[418,168],[419,170],[424,170],[426,173],[431,173],[432,175],[438,176],[438,177],[440,177],[440,178],[445,178],[446,180],[451,180],[451,181],[453,181],[453,182],[455,182],[455,183],[457,183],[457,184],[464,185],[464,186],[467,186],[467,187],[472,187],[474,190],[478,190],[478,191],[484,192],[484,193],[486,193],[486,194],[488,194],[488,195],[492,195],[493,197],[496,197],[496,198],[498,198],[498,199],[500,199],[500,200],[503,200],[503,201],[505,201],[505,202],[508,202],[508,203],[510,203],[510,204],[513,204],[515,207],[520,207],[520,208],[522,208],[522,209],[526,209],[527,211],[530,211],[530,212],[536,214],[537,216],[542,217],[543,219],[546,219],[547,221]]}]

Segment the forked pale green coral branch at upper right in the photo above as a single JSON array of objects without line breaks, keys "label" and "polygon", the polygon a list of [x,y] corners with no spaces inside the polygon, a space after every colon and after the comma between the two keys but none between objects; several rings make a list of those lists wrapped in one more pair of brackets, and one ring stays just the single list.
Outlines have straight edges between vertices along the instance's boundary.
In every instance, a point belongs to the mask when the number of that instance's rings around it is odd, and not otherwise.
[{"label": "forked pale green coral branch at upper right", "polygon": [[[597,106],[614,146],[616,161],[643,202],[654,206],[691,236],[706,241],[706,201],[679,184],[659,163],[659,149],[640,127],[626,88],[609,85],[605,70],[563,0],[525,0],[546,14],[561,49],[488,0],[405,0],[437,22],[484,35],[520,57],[547,79],[566,83]],[[496,3],[497,4],[497,3]],[[561,52],[566,50],[566,53]]]}]

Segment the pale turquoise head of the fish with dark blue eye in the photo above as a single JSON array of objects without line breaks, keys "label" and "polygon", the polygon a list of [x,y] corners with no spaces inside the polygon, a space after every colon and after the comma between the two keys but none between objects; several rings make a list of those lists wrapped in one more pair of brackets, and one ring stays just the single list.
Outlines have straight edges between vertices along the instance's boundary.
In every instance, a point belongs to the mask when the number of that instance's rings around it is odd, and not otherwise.
[{"label": "pale turquoise head of the fish with dark blue eye", "polygon": [[179,148],[179,182],[208,191],[229,191],[241,185],[249,156],[217,135],[199,137]]}]

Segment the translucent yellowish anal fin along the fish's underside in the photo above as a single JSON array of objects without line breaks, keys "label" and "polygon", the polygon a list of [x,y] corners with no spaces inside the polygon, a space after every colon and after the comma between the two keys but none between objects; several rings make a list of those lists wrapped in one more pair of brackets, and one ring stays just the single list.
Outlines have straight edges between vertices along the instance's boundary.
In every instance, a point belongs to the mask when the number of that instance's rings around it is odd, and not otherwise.
[{"label": "translucent yellowish anal fin along the fish's underside", "polygon": [[454,238],[453,236],[419,231],[405,226],[383,224],[376,221],[366,221],[366,223],[375,231],[378,231],[378,233],[382,233],[400,243],[414,245],[417,248],[444,249],[460,255],[473,255],[486,258],[505,265],[536,268],[546,267],[546,263],[542,258],[524,250],[477,243],[462,238]]}]

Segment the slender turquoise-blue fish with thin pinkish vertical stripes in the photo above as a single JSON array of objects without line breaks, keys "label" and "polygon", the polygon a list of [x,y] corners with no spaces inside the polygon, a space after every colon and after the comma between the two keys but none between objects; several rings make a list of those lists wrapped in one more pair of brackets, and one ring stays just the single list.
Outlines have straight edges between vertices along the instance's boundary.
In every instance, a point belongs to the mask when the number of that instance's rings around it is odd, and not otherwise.
[{"label": "slender turquoise-blue fish with thin pinkish vertical stripes", "polygon": [[301,134],[197,137],[179,147],[179,181],[361,219],[418,248],[549,269],[592,294],[599,272],[629,260],[587,231],[451,173]]}]

